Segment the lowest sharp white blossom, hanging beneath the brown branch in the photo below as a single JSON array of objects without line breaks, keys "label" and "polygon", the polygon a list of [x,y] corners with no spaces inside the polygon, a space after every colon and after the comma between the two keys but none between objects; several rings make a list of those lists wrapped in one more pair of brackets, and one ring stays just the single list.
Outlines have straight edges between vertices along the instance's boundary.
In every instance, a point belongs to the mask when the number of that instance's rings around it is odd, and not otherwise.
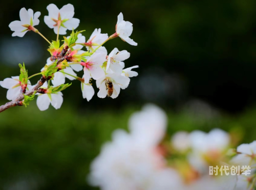
[{"label": "lowest sharp white blossom, hanging beneath the brown branch", "polygon": [[[47,83],[44,83],[42,87],[47,88]],[[39,94],[36,100],[36,104],[40,111],[47,110],[50,103],[56,110],[58,110],[63,102],[62,96],[63,94],[61,92],[57,92],[56,94]]]}]

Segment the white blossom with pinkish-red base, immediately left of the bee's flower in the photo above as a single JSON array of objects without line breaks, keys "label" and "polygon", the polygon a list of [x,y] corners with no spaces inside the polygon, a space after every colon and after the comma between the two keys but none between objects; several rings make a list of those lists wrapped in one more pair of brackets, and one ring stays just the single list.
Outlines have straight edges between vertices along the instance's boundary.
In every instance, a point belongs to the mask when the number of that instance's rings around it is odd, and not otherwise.
[{"label": "white blossom with pinkish-red base, immediately left of the bee's flower", "polygon": [[90,78],[97,80],[98,78],[104,76],[104,71],[100,67],[106,61],[106,53],[98,52],[93,53],[91,57],[87,59],[86,63],[81,63],[84,68],[84,83],[88,84]]}]

